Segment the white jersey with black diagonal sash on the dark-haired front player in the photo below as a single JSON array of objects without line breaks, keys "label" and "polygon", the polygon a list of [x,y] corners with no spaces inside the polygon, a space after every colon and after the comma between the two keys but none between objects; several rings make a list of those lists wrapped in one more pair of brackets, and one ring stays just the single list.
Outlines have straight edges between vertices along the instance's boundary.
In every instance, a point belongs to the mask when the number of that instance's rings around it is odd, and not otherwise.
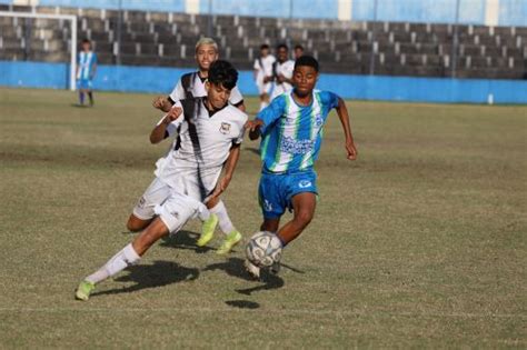
[{"label": "white jersey with black diagonal sash on the dark-haired front player", "polygon": [[156,170],[175,192],[201,202],[212,193],[232,144],[243,140],[248,119],[231,104],[210,112],[205,102],[205,97],[176,101],[183,112],[167,127],[167,137],[177,139]]}]

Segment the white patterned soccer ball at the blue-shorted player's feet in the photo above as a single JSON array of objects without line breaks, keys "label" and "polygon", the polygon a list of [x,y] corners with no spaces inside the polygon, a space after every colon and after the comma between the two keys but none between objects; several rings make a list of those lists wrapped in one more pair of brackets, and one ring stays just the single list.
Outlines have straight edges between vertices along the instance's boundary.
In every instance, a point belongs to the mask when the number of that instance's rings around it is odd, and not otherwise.
[{"label": "white patterned soccer ball at the blue-shorted player's feet", "polygon": [[270,267],[280,261],[281,241],[272,232],[256,232],[247,243],[246,256],[257,267]]}]

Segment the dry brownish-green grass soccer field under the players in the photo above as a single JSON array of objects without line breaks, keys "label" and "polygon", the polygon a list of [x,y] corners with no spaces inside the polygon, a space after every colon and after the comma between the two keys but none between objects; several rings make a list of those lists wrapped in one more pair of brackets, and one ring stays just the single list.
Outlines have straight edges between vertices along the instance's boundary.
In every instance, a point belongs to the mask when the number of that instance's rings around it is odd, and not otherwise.
[{"label": "dry brownish-green grass soccer field under the players", "polygon": [[[152,96],[96,98],[0,89],[0,348],[527,347],[527,107],[349,102],[359,160],[330,117],[279,277],[197,249],[192,221],[79,302],[168,147],[148,141]],[[223,197],[246,238],[256,149]]]}]

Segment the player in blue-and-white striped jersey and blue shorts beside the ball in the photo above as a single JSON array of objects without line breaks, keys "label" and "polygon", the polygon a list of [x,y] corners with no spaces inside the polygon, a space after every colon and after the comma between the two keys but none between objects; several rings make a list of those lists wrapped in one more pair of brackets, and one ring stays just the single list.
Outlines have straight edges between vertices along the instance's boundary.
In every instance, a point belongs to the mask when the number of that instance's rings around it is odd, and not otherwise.
[{"label": "player in blue-and-white striped jersey and blue shorts beside the ball", "polygon": [[[261,230],[276,232],[284,247],[296,239],[314,217],[318,193],[314,164],[322,142],[324,124],[334,108],[342,124],[347,158],[357,159],[346,103],[332,92],[315,90],[318,73],[315,58],[297,59],[294,89],[275,98],[246,124],[251,140],[261,137],[264,166],[258,190],[264,213]],[[280,227],[286,209],[292,210],[294,218]],[[252,276],[259,277],[258,267],[249,261],[246,267]]]}]

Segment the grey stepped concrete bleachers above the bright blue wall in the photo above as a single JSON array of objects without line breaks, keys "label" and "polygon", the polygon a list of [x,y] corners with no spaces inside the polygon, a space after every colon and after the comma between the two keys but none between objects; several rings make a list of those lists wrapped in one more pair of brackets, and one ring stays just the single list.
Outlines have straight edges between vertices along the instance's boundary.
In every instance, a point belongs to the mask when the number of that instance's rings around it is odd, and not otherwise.
[{"label": "grey stepped concrete bleachers above the bright blue wall", "polygon": [[[262,42],[301,43],[324,72],[489,79],[527,78],[527,28],[350,22],[237,16],[23,8],[78,16],[102,64],[195,67],[193,46],[211,36],[221,57],[251,69]],[[70,28],[60,21],[0,18],[0,60],[68,61]]]}]

